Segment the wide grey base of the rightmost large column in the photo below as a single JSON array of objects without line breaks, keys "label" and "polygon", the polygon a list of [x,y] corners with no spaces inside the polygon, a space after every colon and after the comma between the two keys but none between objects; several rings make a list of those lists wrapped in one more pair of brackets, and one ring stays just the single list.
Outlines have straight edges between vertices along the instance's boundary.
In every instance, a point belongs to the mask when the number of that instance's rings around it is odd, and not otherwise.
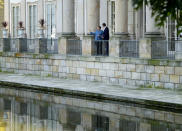
[{"label": "wide grey base of the rightmost large column", "polygon": [[163,40],[165,35],[160,32],[146,32],[145,38],[151,38],[152,40]]}]

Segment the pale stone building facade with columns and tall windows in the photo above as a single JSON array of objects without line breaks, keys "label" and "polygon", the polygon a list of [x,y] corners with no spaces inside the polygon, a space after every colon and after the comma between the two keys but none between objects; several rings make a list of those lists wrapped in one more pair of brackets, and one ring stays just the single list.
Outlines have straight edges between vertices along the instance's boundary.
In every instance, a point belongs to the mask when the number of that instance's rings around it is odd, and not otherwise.
[{"label": "pale stone building facade with columns and tall windows", "polygon": [[37,37],[40,19],[46,21],[46,37],[87,35],[103,22],[112,35],[124,38],[175,37],[169,35],[175,34],[171,24],[157,28],[150,8],[135,11],[132,0],[6,0],[4,14],[12,37],[17,36],[19,21],[23,21],[27,37]]}]

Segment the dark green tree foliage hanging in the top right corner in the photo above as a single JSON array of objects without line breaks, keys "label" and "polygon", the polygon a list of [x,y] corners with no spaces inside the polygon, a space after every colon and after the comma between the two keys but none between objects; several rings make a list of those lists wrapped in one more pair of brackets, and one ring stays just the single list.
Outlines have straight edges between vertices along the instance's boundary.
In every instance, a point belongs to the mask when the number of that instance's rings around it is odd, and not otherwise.
[{"label": "dark green tree foliage hanging in the top right corner", "polygon": [[177,22],[178,34],[182,32],[182,0],[133,0],[135,9],[148,5],[152,9],[157,26],[164,26],[167,18]]}]

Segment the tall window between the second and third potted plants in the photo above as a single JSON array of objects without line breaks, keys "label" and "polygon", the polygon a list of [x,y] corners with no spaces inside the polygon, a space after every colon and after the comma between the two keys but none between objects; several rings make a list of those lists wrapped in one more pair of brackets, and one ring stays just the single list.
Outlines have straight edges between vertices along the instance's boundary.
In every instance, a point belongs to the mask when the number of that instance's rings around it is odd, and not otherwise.
[{"label": "tall window between the second and third potted plants", "polygon": [[37,5],[29,5],[29,37],[35,38],[37,34]]}]

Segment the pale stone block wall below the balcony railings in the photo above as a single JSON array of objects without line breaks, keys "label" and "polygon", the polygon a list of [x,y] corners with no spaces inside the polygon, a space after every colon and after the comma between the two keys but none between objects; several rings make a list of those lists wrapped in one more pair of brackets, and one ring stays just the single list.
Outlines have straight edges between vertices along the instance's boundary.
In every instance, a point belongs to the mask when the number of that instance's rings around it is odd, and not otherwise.
[{"label": "pale stone block wall below the balcony railings", "polygon": [[182,88],[182,61],[175,60],[0,53],[0,69],[124,87]]}]

